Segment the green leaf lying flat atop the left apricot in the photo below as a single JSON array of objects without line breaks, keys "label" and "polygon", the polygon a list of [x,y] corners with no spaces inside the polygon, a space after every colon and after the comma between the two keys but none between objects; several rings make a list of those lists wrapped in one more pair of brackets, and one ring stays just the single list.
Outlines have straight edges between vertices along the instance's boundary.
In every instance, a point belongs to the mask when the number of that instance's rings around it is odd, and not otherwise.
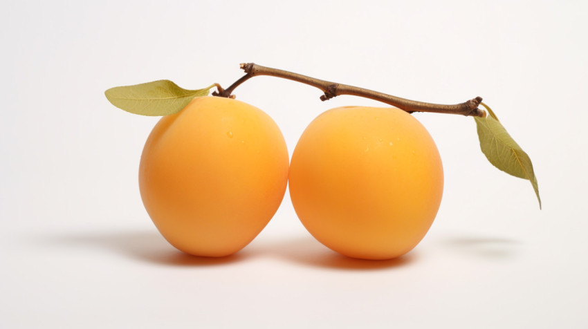
[{"label": "green leaf lying flat atop the left apricot", "polygon": [[210,88],[190,91],[169,80],[114,87],[104,94],[119,109],[140,115],[170,115],[181,111],[194,97],[206,96]]}]

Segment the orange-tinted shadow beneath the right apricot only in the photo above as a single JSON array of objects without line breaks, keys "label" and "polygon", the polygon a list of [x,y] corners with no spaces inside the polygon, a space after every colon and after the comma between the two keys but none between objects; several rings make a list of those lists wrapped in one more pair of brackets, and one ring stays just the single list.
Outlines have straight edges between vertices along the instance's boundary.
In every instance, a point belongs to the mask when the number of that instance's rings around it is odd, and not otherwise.
[{"label": "orange-tinted shadow beneath the right apricot only", "polygon": [[261,252],[301,265],[335,270],[383,270],[407,265],[416,258],[415,253],[410,252],[396,259],[384,261],[354,259],[333,252],[311,236],[260,243],[255,247],[252,246],[249,251],[250,254],[259,254]]}]

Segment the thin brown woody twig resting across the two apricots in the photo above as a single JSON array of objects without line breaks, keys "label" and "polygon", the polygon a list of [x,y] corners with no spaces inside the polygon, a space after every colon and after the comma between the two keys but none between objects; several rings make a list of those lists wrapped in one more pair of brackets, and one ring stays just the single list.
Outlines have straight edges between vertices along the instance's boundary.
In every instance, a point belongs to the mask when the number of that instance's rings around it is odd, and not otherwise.
[{"label": "thin brown woody twig resting across the two apricots", "polygon": [[480,102],[482,101],[481,97],[475,97],[472,100],[468,100],[467,102],[453,105],[432,104],[414,100],[407,100],[405,98],[380,93],[378,91],[371,91],[366,88],[360,88],[356,86],[349,86],[347,84],[338,84],[336,82],[329,82],[326,80],[316,79],[314,77],[308,77],[306,75],[288,72],[280,70],[278,68],[268,68],[266,66],[257,65],[254,63],[241,64],[241,69],[243,69],[246,73],[243,77],[239,78],[236,82],[231,84],[226,89],[217,88],[218,91],[214,91],[212,95],[220,97],[234,97],[232,95],[232,92],[240,84],[246,82],[248,79],[252,77],[257,77],[259,75],[269,75],[272,77],[281,77],[282,79],[293,80],[296,82],[300,82],[302,84],[308,84],[309,86],[319,88],[323,92],[323,95],[320,96],[320,100],[322,101],[329,100],[339,95],[353,95],[369,98],[371,100],[376,100],[378,102],[383,102],[385,104],[396,106],[398,107],[398,109],[402,109],[404,111],[407,111],[408,113],[449,113],[461,114],[466,116],[475,116],[481,118],[484,118],[486,116],[486,111],[484,111],[484,109],[478,108]]}]

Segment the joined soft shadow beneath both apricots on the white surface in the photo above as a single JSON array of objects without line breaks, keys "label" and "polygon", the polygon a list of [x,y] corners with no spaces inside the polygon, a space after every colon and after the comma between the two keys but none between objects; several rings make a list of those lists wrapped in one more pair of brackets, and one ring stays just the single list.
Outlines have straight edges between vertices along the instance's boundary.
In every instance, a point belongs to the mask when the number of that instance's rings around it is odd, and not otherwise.
[{"label": "joined soft shadow beneath both apricots on the white surface", "polygon": [[312,236],[280,241],[254,241],[244,250],[226,257],[199,257],[185,254],[176,250],[156,231],[53,235],[44,236],[42,243],[77,250],[82,248],[105,250],[136,261],[172,266],[226,265],[245,259],[270,256],[310,267],[335,270],[382,270],[401,267],[415,259],[414,252],[384,261],[353,259],[329,250]]}]

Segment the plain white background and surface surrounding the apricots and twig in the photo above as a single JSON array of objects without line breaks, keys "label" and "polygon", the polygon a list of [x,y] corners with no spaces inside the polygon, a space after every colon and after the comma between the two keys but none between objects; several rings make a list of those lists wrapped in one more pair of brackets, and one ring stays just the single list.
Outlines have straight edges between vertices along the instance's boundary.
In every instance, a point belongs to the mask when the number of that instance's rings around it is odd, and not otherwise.
[{"label": "plain white background and surface surrounding the apricots and twig", "polygon": [[[587,328],[586,1],[6,1],[0,12],[1,328]],[[439,214],[395,261],[347,259],[288,194],[226,259],[181,254],[140,201],[158,118],[112,86],[223,86],[241,62],[414,100],[480,95],[529,153],[492,167],[472,118],[418,113],[445,170]],[[378,103],[256,77],[237,98],[288,150],[315,116]]]}]

